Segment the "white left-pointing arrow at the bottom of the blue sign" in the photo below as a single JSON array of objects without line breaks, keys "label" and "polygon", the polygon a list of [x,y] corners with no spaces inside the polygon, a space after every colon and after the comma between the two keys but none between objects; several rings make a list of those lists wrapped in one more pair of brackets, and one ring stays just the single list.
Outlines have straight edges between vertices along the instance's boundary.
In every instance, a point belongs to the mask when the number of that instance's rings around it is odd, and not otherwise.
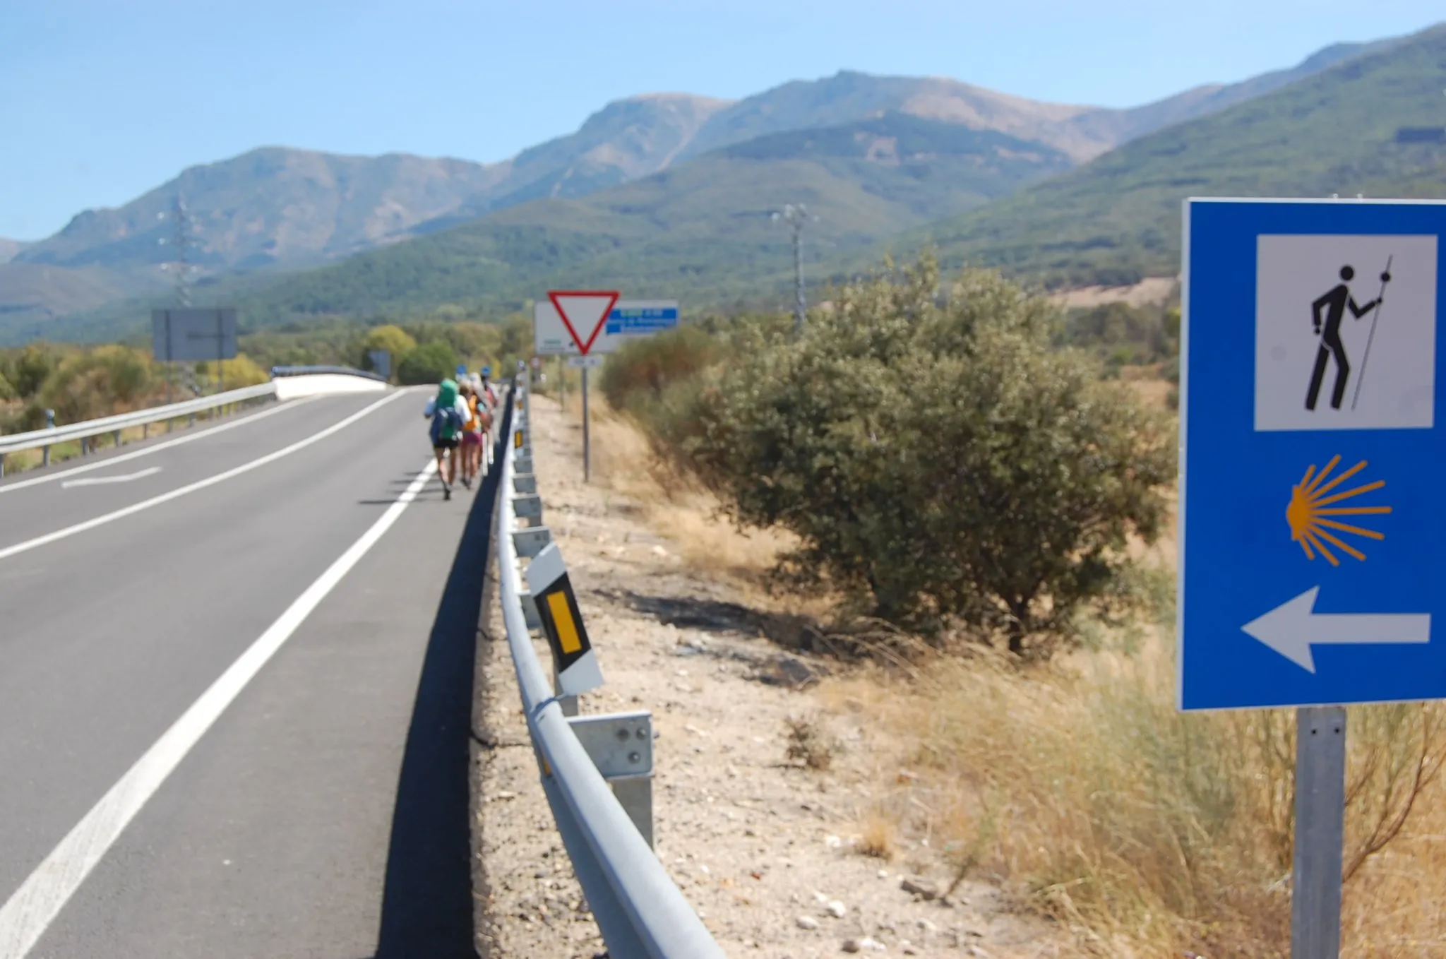
[{"label": "white left-pointing arrow at the bottom of the blue sign", "polygon": [[1310,647],[1432,641],[1430,613],[1316,613],[1317,593],[1320,587],[1313,586],[1241,629],[1310,673],[1316,671]]}]

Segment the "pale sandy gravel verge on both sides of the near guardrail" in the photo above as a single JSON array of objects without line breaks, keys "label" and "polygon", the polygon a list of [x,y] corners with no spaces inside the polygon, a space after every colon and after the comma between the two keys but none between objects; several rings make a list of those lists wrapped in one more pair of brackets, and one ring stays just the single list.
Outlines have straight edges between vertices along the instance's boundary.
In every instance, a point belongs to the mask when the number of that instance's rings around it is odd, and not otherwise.
[{"label": "pale sandy gravel verge on both sides of the near guardrail", "polygon": [[[607,680],[581,712],[652,710],[658,856],[727,955],[1071,955],[1060,930],[1009,913],[988,884],[937,895],[950,875],[927,835],[886,832],[873,845],[889,855],[863,855],[881,801],[908,775],[907,743],[878,733],[865,710],[833,704],[818,678],[837,667],[765,638],[739,590],[691,568],[636,500],[584,485],[573,417],[547,398],[532,417],[545,522]],[[479,946],[499,959],[599,956],[489,594],[476,826],[490,920]],[[820,730],[827,770],[788,759],[790,719]]]}]

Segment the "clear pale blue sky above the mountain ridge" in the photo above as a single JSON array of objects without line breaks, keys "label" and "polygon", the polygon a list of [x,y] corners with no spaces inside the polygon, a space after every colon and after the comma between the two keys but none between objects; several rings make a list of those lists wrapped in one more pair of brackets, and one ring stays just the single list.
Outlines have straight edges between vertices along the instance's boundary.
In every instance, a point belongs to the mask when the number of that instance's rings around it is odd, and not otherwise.
[{"label": "clear pale blue sky above the mountain ridge", "polygon": [[1134,106],[1440,0],[0,0],[0,237],[253,146],[499,161],[646,91],[840,68]]}]

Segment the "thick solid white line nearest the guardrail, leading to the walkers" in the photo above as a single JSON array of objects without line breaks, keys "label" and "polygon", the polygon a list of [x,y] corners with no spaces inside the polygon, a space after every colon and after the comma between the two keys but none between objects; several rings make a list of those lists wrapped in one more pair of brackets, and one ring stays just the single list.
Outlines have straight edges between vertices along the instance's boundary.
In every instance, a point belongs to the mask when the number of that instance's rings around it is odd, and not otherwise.
[{"label": "thick solid white line nearest the guardrail, leading to the walkers", "polygon": [[382,538],[437,470],[428,460],[401,498],[351,544],[152,745],[0,905],[0,959],[25,959],[132,819],[307,616]]}]

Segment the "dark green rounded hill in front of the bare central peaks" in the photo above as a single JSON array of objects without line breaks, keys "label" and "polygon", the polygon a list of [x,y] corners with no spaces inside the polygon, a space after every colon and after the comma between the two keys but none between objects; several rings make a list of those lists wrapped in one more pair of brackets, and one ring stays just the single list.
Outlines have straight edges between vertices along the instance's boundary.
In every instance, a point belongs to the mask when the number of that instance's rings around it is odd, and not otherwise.
[{"label": "dark green rounded hill in front of the bare central peaks", "polygon": [[1040,143],[889,114],[779,133],[580,200],[541,200],[291,276],[240,301],[250,325],[298,315],[516,308],[549,286],[691,302],[772,291],[791,263],[785,203],[818,216],[810,259],[865,249],[1069,168]]}]

